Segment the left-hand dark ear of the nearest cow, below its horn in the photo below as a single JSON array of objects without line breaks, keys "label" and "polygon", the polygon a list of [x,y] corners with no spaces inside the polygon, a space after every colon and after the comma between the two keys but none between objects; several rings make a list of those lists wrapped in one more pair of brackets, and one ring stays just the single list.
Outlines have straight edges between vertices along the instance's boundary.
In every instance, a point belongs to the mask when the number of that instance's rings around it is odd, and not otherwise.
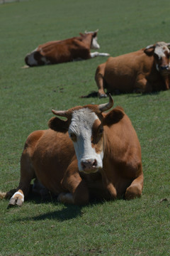
[{"label": "left-hand dark ear of the nearest cow, below its horn", "polygon": [[66,133],[69,129],[69,119],[67,119],[67,121],[64,121],[58,117],[52,117],[48,121],[48,126],[50,127],[50,129],[53,129],[56,132]]}]

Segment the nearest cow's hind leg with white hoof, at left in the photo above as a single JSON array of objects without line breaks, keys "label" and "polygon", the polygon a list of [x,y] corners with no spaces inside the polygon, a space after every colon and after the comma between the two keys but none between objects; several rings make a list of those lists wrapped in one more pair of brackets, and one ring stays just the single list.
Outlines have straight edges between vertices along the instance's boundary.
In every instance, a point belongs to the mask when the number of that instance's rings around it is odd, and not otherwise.
[{"label": "nearest cow's hind leg with white hoof, at left", "polygon": [[21,156],[20,183],[18,188],[16,188],[16,193],[14,193],[11,197],[8,206],[21,206],[23,204],[24,196],[27,196],[30,190],[30,181],[33,177],[35,177],[33,167],[30,163],[30,157],[25,151],[26,149],[23,151],[23,154]]}]

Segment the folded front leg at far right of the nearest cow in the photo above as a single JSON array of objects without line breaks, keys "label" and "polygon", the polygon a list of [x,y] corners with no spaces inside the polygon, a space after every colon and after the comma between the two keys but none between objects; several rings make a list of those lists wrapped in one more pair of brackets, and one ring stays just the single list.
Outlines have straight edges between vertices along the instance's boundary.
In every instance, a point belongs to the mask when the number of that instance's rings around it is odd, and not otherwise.
[{"label": "folded front leg at far right of the nearest cow", "polygon": [[125,199],[139,198],[142,195],[143,174],[135,178],[125,191]]}]

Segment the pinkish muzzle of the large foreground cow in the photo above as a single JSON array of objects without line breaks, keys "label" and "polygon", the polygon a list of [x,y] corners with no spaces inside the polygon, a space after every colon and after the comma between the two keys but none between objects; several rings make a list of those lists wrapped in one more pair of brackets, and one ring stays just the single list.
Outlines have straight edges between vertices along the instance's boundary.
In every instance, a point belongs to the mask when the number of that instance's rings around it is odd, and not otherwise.
[{"label": "pinkish muzzle of the large foreground cow", "polygon": [[81,159],[81,169],[86,174],[98,171],[98,162],[96,159]]}]

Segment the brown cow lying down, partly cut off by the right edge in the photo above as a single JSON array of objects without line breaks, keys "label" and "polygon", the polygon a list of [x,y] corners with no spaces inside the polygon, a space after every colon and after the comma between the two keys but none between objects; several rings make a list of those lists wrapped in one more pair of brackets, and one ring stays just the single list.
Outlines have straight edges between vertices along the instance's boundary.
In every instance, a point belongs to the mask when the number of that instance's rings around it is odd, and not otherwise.
[{"label": "brown cow lying down, partly cut off by the right edge", "polygon": [[98,96],[108,92],[169,90],[170,43],[159,42],[133,53],[110,57],[96,69]]}]

